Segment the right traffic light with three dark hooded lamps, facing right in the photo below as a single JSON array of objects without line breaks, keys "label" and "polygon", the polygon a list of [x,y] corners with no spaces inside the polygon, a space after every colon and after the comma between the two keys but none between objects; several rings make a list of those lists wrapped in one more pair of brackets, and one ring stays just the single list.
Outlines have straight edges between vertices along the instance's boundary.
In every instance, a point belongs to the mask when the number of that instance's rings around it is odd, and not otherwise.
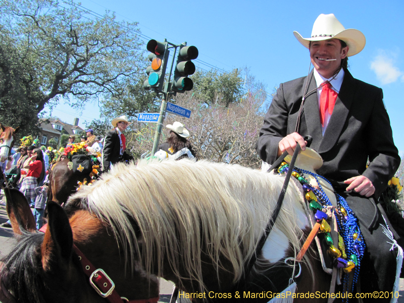
[{"label": "right traffic light with three dark hooded lamps, facing right", "polygon": [[180,46],[178,53],[177,65],[174,70],[174,83],[172,90],[184,92],[191,90],[193,82],[188,75],[195,72],[195,65],[190,61],[198,57],[198,49],[195,46]]}]

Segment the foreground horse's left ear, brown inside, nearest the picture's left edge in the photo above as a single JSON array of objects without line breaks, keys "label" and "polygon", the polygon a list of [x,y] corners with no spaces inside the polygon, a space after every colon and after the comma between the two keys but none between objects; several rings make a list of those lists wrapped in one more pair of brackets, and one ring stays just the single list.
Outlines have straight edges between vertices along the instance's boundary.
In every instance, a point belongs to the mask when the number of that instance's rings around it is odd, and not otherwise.
[{"label": "foreground horse's left ear, brown inside, nearest the picture's left edge", "polygon": [[14,233],[22,234],[23,230],[35,231],[35,219],[24,194],[17,189],[7,187],[4,188],[4,193],[7,200],[7,214]]}]

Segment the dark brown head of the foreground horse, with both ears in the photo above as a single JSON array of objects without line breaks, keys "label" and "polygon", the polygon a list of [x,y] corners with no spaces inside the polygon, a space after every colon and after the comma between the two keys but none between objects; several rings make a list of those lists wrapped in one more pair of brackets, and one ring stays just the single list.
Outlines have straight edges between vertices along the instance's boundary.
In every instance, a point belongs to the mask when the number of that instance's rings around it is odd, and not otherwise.
[{"label": "dark brown head of the foreground horse, with both ears", "polygon": [[5,193],[19,243],[3,260],[2,302],[105,302],[91,287],[74,245],[95,268],[107,273],[119,295],[129,299],[158,296],[157,279],[145,277],[142,271],[130,272],[108,226],[94,215],[80,210],[69,219],[62,207],[50,201],[48,227],[42,233],[35,229],[24,195],[8,188]]}]

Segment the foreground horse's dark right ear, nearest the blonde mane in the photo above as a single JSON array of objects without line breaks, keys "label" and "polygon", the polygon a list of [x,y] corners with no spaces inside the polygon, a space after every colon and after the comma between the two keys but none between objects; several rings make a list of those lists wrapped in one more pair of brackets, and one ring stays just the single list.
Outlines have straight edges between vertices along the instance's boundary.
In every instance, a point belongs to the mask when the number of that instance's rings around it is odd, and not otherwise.
[{"label": "foreground horse's dark right ear, nearest the blonde mane", "polygon": [[46,256],[51,252],[62,258],[62,262],[69,262],[73,251],[73,233],[69,219],[63,208],[54,201],[48,202],[47,211],[48,228],[42,243],[42,263],[48,261]]}]

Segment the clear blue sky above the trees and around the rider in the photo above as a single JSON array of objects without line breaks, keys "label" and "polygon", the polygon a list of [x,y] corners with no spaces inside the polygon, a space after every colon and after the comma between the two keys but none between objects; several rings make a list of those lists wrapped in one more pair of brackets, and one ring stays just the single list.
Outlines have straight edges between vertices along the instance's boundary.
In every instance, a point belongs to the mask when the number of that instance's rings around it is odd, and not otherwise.
[{"label": "clear blue sky above the trees and around the rider", "polygon": [[[76,2],[77,3],[77,2]],[[387,1],[121,1],[83,0],[82,6],[104,14],[116,12],[118,20],[136,21],[149,38],[194,45],[200,61],[219,69],[248,67],[271,93],[279,83],[305,76],[309,51],[293,36],[298,31],[309,37],[316,18],[333,13],[345,28],[356,28],[366,36],[364,50],[350,57],[351,74],[381,87],[390,116],[394,142],[404,154],[404,21],[402,0]],[[331,4],[331,5],[328,5]],[[143,39],[147,42],[148,38]],[[209,67],[196,63],[197,67]],[[56,107],[54,115],[72,122],[78,114],[67,105]],[[99,117],[96,105],[79,115],[84,120]]]}]

